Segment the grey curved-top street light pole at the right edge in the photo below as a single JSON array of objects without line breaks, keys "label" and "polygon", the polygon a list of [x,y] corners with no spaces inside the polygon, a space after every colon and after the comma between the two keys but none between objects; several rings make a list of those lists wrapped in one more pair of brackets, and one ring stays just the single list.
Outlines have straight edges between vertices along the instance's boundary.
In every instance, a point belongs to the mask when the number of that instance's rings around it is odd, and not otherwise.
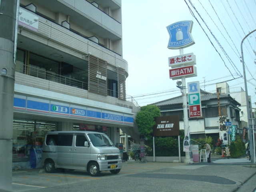
[{"label": "grey curved-top street light pole at the right edge", "polygon": [[[250,35],[252,34],[253,32],[255,32],[255,30],[253,30],[252,32],[248,33],[242,40],[241,42],[241,55],[242,55],[242,65],[243,65],[243,70],[244,70],[244,87],[245,87],[245,97],[246,97],[246,110],[247,110],[247,122],[248,122],[248,132],[249,132],[249,140],[251,141],[250,142],[250,155],[252,156],[251,160],[252,160],[252,163],[255,164],[255,156],[254,156],[254,150],[253,150],[253,144],[254,144],[254,141],[252,139],[252,128],[250,128],[250,124],[249,124],[249,120],[251,120],[250,116],[251,116],[251,113],[250,113],[250,106],[249,106],[249,99],[248,99],[248,90],[247,90],[247,82],[246,82],[246,74],[245,74],[245,68],[244,68],[244,54],[243,54],[243,42],[244,40]],[[253,142],[252,142],[253,141]]]}]

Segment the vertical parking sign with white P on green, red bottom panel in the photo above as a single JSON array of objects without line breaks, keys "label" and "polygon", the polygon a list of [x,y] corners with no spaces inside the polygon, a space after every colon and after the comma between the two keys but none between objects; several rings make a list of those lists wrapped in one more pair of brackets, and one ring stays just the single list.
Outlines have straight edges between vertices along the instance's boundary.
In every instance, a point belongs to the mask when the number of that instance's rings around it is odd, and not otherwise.
[{"label": "vertical parking sign with white P on green, red bottom panel", "polygon": [[188,83],[188,106],[189,106],[189,117],[202,116],[199,81]]}]

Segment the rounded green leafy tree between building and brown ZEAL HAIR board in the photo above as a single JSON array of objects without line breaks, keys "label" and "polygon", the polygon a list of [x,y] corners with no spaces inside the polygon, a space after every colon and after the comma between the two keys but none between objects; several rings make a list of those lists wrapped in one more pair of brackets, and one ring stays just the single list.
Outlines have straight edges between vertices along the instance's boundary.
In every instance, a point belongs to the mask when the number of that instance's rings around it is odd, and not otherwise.
[{"label": "rounded green leafy tree between building and brown ZEAL HAIR board", "polygon": [[152,138],[153,126],[156,124],[155,118],[160,115],[160,109],[156,105],[142,106],[136,115],[138,131],[148,140]]}]

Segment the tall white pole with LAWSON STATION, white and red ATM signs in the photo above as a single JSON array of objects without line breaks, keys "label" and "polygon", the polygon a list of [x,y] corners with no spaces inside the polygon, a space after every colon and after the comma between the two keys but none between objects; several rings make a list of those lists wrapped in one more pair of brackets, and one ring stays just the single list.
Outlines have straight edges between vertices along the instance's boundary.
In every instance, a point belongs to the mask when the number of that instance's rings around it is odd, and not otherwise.
[{"label": "tall white pole with LAWSON STATION, white and red ATM signs", "polygon": [[[168,42],[168,49],[179,49],[180,56],[175,56],[173,58],[168,58],[169,66],[174,68],[170,70],[170,78],[172,80],[181,79],[182,80],[182,100],[183,100],[183,114],[184,114],[184,143],[183,151],[186,154],[184,162],[191,163],[190,157],[190,130],[188,125],[188,107],[187,107],[187,96],[186,96],[186,77],[196,76],[192,69],[185,67],[188,64],[195,64],[195,58],[193,54],[184,55],[183,48],[193,45],[195,42],[191,35],[193,22],[192,21],[180,21],[167,26],[167,30],[170,34],[170,39]],[[180,68],[179,68],[180,67]],[[194,70],[194,66],[193,70]]]}]

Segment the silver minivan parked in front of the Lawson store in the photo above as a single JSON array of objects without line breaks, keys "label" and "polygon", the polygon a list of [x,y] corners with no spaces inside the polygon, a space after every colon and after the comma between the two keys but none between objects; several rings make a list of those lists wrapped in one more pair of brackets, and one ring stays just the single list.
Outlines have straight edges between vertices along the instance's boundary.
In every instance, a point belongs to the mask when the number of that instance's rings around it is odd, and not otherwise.
[{"label": "silver minivan parked in front of the Lawson store", "polygon": [[90,131],[47,132],[42,148],[45,171],[87,170],[91,176],[101,171],[118,174],[122,168],[120,151],[106,134]]}]

